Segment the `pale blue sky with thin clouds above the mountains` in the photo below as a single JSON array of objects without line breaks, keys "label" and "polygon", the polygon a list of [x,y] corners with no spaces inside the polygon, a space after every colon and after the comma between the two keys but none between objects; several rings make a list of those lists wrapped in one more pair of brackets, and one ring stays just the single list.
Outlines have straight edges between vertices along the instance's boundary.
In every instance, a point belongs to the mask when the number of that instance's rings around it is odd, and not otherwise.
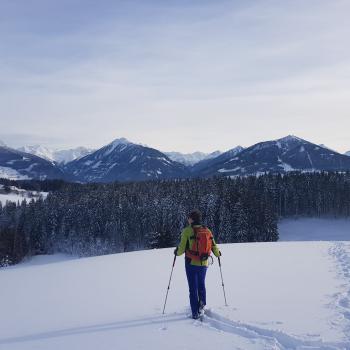
[{"label": "pale blue sky with thin clouds above the mountains", "polygon": [[350,150],[348,0],[0,0],[0,140]]}]

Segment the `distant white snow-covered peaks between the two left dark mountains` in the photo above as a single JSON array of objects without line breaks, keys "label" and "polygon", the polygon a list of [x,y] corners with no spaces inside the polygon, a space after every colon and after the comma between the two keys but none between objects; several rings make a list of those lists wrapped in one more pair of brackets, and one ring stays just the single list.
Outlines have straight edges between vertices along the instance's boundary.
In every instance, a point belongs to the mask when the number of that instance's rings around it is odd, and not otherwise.
[{"label": "distant white snow-covered peaks between the two left dark mountains", "polygon": [[90,154],[94,151],[85,147],[58,150],[41,145],[24,146],[18,148],[18,150],[21,152],[31,153],[38,157],[44,158],[49,161],[54,161],[60,164],[66,164],[68,162],[71,162],[72,160],[84,157],[87,154]]}]

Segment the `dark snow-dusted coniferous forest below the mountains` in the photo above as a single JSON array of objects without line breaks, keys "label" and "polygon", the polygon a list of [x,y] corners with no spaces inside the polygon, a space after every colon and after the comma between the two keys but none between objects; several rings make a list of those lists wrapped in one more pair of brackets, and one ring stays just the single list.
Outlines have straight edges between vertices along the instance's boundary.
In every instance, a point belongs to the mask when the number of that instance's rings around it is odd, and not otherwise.
[{"label": "dark snow-dusted coniferous forest below the mountains", "polygon": [[194,208],[219,243],[277,241],[281,218],[350,217],[350,173],[3,183],[50,193],[45,200],[0,204],[0,266],[37,254],[93,256],[175,246]]}]

